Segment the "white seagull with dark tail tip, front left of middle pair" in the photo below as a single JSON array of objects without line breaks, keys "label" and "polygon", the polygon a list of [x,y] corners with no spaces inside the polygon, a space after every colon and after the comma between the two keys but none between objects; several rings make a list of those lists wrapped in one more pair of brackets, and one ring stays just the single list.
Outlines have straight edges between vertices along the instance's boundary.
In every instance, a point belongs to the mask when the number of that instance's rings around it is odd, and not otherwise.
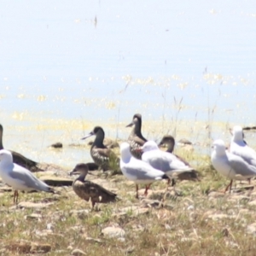
[{"label": "white seagull with dark tail tip, front left of middle pair", "polygon": [[120,168],[125,177],[136,183],[136,197],[138,198],[138,184],[146,184],[144,195],[148,195],[151,183],[168,178],[164,172],[154,169],[143,160],[131,156],[129,143],[120,145]]}]

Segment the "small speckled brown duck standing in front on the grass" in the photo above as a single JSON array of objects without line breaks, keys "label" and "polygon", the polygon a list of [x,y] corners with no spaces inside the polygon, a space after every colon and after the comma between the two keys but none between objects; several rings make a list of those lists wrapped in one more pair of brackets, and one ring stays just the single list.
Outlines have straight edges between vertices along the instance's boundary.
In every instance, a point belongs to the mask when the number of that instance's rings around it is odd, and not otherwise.
[{"label": "small speckled brown duck standing in front on the grass", "polygon": [[73,181],[73,191],[85,201],[90,201],[92,208],[96,203],[109,203],[117,201],[117,195],[102,186],[85,180],[88,173],[86,164],[78,164],[74,167],[70,175],[79,174],[79,177]]}]

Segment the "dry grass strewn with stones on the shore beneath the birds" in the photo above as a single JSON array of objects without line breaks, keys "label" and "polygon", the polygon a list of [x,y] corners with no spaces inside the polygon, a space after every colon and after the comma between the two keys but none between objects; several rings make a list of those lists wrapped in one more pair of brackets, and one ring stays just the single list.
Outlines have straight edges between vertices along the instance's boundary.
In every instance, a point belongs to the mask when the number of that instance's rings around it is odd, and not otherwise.
[{"label": "dry grass strewn with stones on the shore beneath the birds", "polygon": [[[256,200],[256,193],[214,193],[228,181],[212,170],[209,157],[183,156],[195,163],[201,182],[177,182],[177,194],[168,193],[163,207],[147,207],[143,199],[136,200],[134,185],[122,175],[108,177],[104,183],[117,191],[121,201],[101,205],[100,211],[91,211],[90,203],[80,200],[72,188],[62,188],[61,195],[53,196],[21,193],[21,201],[42,202],[46,197],[53,202],[32,209],[13,207],[12,194],[4,192],[0,254],[69,255],[79,248],[87,255],[105,256],[255,255],[255,238],[247,233],[247,226],[255,222],[255,207],[250,202]],[[154,193],[148,198],[159,198],[165,188],[165,182],[154,183]],[[131,208],[119,214],[131,206],[148,210],[137,215]],[[125,236],[103,236],[102,229],[108,226],[119,226]]]}]

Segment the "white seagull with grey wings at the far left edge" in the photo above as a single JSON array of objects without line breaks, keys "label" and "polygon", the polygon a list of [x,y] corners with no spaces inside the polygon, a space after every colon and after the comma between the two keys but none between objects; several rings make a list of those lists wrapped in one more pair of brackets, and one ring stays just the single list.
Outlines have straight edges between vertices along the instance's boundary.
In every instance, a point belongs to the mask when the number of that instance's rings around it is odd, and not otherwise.
[{"label": "white seagull with grey wings at the far left edge", "polygon": [[13,155],[6,149],[0,150],[0,176],[4,183],[15,189],[14,203],[18,203],[18,190],[39,190],[55,193],[46,183],[35,177],[26,168],[14,164]]}]

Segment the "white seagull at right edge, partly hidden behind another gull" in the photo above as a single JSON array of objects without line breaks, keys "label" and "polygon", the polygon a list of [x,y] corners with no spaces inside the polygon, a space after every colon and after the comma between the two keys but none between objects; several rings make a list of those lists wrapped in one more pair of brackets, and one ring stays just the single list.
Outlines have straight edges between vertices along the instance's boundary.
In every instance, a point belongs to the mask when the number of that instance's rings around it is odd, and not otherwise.
[{"label": "white seagull at right edge, partly hidden behind another gull", "polygon": [[249,165],[256,167],[256,152],[253,148],[247,146],[243,140],[243,132],[241,126],[234,126],[230,143],[230,153],[241,156],[241,158]]}]

